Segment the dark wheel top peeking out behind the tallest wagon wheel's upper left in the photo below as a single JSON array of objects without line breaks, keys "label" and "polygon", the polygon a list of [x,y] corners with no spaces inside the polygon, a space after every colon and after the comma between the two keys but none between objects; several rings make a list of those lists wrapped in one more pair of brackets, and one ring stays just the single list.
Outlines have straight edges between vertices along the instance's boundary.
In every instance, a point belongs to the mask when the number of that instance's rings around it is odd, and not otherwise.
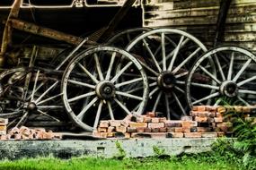
[{"label": "dark wheel top peeking out behind the tallest wagon wheel's upper left", "polygon": [[114,47],[127,47],[128,43],[132,41],[134,38],[136,38],[138,35],[142,34],[143,32],[146,32],[148,30],[151,30],[150,28],[135,28],[135,29],[128,29],[120,31],[115,36],[111,37],[107,44]]}]

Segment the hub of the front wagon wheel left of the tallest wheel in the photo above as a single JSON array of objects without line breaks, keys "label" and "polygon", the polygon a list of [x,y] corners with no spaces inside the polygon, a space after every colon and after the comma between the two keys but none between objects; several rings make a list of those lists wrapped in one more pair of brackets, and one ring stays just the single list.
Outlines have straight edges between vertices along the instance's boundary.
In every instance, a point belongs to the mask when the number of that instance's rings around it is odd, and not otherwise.
[{"label": "hub of the front wagon wheel left of the tallest wheel", "polygon": [[110,99],[115,96],[115,86],[110,81],[101,81],[96,86],[96,94],[99,98]]}]

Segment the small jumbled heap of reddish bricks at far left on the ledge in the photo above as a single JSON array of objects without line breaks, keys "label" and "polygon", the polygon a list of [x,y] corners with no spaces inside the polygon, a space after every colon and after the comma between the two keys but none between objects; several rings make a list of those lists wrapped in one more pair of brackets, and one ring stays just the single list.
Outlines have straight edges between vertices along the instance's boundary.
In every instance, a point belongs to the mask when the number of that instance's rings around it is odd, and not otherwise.
[{"label": "small jumbled heap of reddish bricks at far left on the ledge", "polygon": [[14,127],[8,133],[1,134],[0,140],[61,140],[60,134],[52,131],[46,131],[43,128],[31,129],[25,126],[21,128]]}]

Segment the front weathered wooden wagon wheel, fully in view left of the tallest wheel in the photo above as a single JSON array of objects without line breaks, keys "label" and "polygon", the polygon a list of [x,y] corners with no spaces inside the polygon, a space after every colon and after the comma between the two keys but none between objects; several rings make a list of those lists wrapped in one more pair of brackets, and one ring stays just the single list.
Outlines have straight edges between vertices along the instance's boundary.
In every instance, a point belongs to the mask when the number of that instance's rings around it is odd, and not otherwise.
[{"label": "front weathered wooden wagon wheel, fully in view left of the tallest wheel", "polygon": [[[119,72],[117,65],[122,68]],[[67,94],[70,90],[77,93]],[[147,90],[142,66],[128,52],[116,47],[93,47],[76,55],[62,79],[66,111],[87,131],[93,131],[103,119],[142,114]]]}]

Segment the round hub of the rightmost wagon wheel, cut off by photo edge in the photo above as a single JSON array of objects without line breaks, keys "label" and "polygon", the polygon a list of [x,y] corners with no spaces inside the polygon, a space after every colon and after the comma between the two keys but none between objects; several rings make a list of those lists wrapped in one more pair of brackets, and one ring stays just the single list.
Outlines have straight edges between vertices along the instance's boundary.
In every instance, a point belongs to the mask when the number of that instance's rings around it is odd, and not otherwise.
[{"label": "round hub of the rightmost wagon wheel, cut off by photo edge", "polygon": [[234,81],[224,81],[220,86],[220,92],[229,98],[234,98],[238,94],[238,87]]}]

